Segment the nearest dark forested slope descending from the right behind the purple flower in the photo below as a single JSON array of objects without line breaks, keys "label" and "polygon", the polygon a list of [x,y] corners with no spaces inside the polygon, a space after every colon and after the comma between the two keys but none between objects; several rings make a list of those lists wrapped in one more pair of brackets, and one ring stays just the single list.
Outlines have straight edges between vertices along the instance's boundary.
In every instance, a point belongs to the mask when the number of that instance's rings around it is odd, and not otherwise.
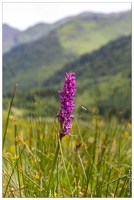
[{"label": "nearest dark forested slope descending from the right behind the purple flower", "polygon": [[77,80],[76,102],[91,111],[98,99],[101,112],[114,106],[116,114],[125,110],[124,115],[127,113],[130,116],[131,59],[131,36],[122,37],[66,64],[43,85],[57,85],[56,88],[60,88],[65,72],[74,71]]}]

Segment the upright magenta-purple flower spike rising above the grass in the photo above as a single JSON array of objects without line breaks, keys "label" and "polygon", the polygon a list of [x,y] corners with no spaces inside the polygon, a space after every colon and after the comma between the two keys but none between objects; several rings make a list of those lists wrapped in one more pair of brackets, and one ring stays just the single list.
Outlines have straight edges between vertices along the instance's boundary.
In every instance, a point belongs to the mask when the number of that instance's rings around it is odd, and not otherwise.
[{"label": "upright magenta-purple flower spike rising above the grass", "polygon": [[65,73],[65,75],[63,89],[58,90],[61,99],[61,109],[57,115],[61,126],[60,138],[70,135],[70,129],[72,128],[71,119],[74,117],[72,111],[75,106],[73,103],[76,91],[75,73],[70,72]]}]

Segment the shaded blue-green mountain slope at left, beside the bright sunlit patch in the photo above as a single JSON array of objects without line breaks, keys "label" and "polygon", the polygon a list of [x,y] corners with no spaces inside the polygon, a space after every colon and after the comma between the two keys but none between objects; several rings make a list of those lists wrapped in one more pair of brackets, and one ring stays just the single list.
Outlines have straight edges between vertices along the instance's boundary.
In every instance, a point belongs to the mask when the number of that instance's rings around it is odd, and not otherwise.
[{"label": "shaded blue-green mountain slope at left, beside the bright sunlit patch", "polygon": [[19,90],[37,88],[72,56],[64,51],[53,32],[34,43],[14,48],[3,56],[5,93],[12,91],[16,83],[19,84]]}]

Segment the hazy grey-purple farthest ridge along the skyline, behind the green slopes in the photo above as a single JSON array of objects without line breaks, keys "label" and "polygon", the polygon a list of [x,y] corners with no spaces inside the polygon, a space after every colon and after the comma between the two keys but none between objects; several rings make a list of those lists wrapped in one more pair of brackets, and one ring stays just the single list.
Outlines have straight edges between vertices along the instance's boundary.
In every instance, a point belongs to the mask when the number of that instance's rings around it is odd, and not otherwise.
[{"label": "hazy grey-purple farthest ridge along the skyline, behind the green slopes", "polygon": [[128,12],[112,13],[112,14],[85,12],[85,13],[81,13],[75,16],[66,17],[53,24],[39,23],[39,24],[29,27],[25,31],[19,31],[17,29],[10,27],[7,24],[3,24],[2,26],[3,53],[8,52],[15,46],[33,42],[39,39],[40,37],[45,36],[50,31],[56,31],[57,28],[60,28],[61,26],[66,26],[68,23],[72,23],[73,21],[83,21],[83,22],[92,21],[95,23],[102,23],[102,21],[104,21],[103,23],[105,23],[106,20],[110,18],[111,19],[115,18],[116,20],[124,21],[126,20],[126,19],[123,19],[124,17],[129,18],[130,20],[131,12],[128,11]]}]

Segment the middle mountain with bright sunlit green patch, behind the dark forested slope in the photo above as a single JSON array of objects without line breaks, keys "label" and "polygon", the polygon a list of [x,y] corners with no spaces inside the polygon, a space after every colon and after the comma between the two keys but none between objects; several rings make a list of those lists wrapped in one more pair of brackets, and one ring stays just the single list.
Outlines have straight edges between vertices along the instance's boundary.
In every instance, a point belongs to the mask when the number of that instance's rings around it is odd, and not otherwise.
[{"label": "middle mountain with bright sunlit green patch, behind the dark forested slope", "polygon": [[[16,83],[20,91],[38,88],[67,62],[97,50],[111,40],[129,35],[131,12],[110,15],[83,13],[59,21],[54,26],[39,39],[18,45],[3,55],[5,93],[12,91]],[[36,26],[37,30],[39,27]],[[43,30],[44,25],[41,27]],[[47,31],[49,26],[45,27]],[[30,29],[29,34],[31,31],[35,33],[35,27]]]}]

